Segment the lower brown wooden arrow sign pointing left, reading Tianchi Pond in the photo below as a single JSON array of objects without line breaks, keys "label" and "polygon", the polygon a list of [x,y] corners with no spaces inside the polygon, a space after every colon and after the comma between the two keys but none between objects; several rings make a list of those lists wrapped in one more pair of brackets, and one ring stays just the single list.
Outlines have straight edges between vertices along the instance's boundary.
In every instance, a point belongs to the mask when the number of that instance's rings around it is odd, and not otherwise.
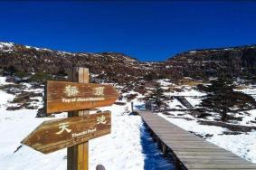
[{"label": "lower brown wooden arrow sign pointing left, reading Tianchi Pond", "polygon": [[48,154],[53,151],[84,143],[111,131],[109,111],[83,117],[44,121],[25,137],[22,144]]}]

